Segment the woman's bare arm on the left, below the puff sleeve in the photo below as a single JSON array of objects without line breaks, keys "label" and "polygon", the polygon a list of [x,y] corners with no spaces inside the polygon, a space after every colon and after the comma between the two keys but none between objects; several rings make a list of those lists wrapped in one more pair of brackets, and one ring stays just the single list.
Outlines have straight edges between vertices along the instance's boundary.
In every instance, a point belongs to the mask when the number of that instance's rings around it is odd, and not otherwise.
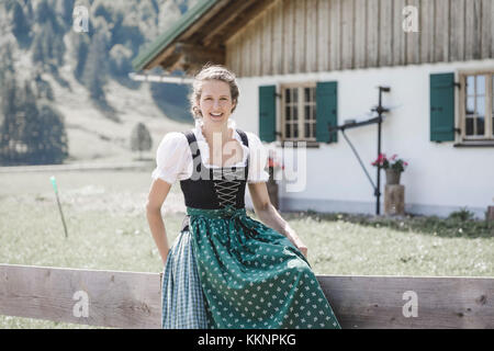
[{"label": "woman's bare arm on the left, below the puff sleeve", "polygon": [[168,251],[170,247],[168,245],[167,231],[161,217],[161,205],[165,202],[171,184],[161,179],[155,179],[151,183],[149,194],[146,203],[146,216],[149,229],[158,247],[159,254],[161,256],[162,264],[167,262]]}]

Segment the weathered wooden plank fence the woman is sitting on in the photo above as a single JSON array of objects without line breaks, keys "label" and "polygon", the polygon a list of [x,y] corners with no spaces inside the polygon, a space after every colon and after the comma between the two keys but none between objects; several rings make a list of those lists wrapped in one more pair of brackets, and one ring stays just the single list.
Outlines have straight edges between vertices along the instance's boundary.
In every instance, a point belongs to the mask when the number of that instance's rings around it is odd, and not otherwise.
[{"label": "weathered wooden plank fence the woman is sitting on", "polygon": [[[317,279],[343,328],[494,328],[494,278]],[[0,264],[0,315],[160,328],[161,273]]]}]

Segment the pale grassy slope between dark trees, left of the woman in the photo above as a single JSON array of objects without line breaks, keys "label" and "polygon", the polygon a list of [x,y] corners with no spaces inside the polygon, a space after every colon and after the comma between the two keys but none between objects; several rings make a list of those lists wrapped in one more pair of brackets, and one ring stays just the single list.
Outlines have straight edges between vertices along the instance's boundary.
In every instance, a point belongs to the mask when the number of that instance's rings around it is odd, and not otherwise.
[{"label": "pale grassy slope between dark trees, left of the woman", "polygon": [[66,77],[71,91],[46,75],[54,89],[56,106],[66,117],[70,154],[66,163],[132,160],[136,155],[130,150],[130,135],[138,122],[146,124],[153,137],[151,150],[143,156],[153,158],[166,133],[191,126],[167,117],[153,100],[148,83],[133,90],[111,80],[104,89],[109,104],[121,121],[115,123],[93,106],[85,87],[70,75]]}]

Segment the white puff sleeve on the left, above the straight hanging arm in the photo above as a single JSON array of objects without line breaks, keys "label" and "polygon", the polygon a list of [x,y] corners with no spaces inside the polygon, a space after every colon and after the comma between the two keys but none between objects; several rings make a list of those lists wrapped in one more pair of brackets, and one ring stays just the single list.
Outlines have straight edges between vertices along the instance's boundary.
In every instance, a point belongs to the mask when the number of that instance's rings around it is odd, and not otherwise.
[{"label": "white puff sleeve on the left, above the straight hanging arm", "polygon": [[166,134],[156,150],[156,168],[151,178],[173,184],[181,174],[187,173],[188,151],[189,144],[182,133]]}]

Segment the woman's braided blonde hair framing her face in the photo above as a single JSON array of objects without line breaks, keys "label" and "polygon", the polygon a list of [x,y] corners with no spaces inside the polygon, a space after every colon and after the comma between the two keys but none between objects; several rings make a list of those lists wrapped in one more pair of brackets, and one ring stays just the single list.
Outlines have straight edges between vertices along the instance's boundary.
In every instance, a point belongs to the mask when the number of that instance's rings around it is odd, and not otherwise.
[{"label": "woman's braided blonde hair framing her face", "polygon": [[202,94],[202,84],[206,80],[221,80],[229,86],[229,93],[232,95],[232,102],[235,104],[232,112],[235,111],[238,103],[238,86],[235,73],[228,70],[222,65],[206,64],[201,70],[194,76],[194,81],[192,83],[192,93],[189,97],[190,111],[194,118],[202,116],[201,109],[199,107],[199,100]]}]

